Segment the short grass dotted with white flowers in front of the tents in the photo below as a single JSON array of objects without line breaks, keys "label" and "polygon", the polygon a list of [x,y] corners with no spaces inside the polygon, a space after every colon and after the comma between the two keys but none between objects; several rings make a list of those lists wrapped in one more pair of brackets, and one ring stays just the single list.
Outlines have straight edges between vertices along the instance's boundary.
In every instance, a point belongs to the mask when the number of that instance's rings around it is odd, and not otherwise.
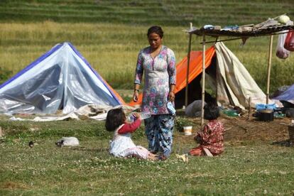
[{"label": "short grass dotted with white flowers in front of the tents", "polygon": [[[178,117],[178,121],[180,117]],[[199,122],[197,122],[199,123]],[[175,154],[195,147],[175,131],[166,161],[121,159],[107,151],[112,133],[103,121],[0,121],[0,195],[293,195],[294,149],[271,141],[227,141],[222,156]],[[55,146],[76,136],[78,147]],[[143,126],[133,134],[146,146]],[[38,145],[28,147],[28,141]]]}]

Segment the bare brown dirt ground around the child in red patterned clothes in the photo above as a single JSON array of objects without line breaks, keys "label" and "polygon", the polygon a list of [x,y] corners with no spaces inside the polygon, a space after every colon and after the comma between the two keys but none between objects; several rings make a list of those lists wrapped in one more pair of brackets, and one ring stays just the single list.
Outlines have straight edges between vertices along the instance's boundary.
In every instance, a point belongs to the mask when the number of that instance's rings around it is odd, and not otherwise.
[{"label": "bare brown dirt ground around the child in red patterned clothes", "polygon": [[[288,124],[291,119],[284,117],[283,119],[274,119],[273,121],[258,121],[255,117],[248,116],[229,117],[220,116],[219,121],[222,121],[225,128],[224,141],[228,143],[239,143],[243,141],[261,141],[261,142],[276,142],[283,146],[287,146],[289,140]],[[195,119],[199,126],[193,126],[193,133],[201,129],[200,118]],[[183,134],[182,134],[183,135]],[[179,142],[190,142],[192,136],[178,136]]]}]

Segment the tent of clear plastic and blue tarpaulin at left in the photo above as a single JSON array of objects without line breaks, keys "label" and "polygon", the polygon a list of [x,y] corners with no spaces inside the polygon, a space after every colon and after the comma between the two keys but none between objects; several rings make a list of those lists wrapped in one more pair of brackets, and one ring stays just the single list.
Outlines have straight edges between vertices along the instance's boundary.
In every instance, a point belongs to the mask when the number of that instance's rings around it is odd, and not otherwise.
[{"label": "tent of clear plastic and blue tarpaulin at left", "polygon": [[63,114],[123,100],[71,43],[60,43],[0,85],[0,114]]}]

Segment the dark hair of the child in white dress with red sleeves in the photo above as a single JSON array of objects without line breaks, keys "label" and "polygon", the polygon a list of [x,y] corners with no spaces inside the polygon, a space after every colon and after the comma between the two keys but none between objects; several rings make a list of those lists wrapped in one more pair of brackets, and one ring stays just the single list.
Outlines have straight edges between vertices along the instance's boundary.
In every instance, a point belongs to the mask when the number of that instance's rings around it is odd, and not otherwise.
[{"label": "dark hair of the child in white dress with red sleeves", "polygon": [[105,122],[105,128],[107,131],[114,131],[121,124],[124,124],[126,120],[126,115],[122,108],[110,109],[107,112],[107,120]]}]

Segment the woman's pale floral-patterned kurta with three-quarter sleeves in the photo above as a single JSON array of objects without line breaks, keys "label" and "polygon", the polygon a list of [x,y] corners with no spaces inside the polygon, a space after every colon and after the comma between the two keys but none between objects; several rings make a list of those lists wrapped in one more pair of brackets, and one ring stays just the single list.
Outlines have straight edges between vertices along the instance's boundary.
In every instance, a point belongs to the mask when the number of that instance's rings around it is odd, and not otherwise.
[{"label": "woman's pale floral-patterned kurta with three-quarter sleeves", "polygon": [[154,114],[169,114],[166,104],[170,85],[175,85],[175,55],[173,50],[162,45],[160,53],[153,59],[151,47],[138,54],[135,84],[141,85],[144,73],[142,110]]}]

